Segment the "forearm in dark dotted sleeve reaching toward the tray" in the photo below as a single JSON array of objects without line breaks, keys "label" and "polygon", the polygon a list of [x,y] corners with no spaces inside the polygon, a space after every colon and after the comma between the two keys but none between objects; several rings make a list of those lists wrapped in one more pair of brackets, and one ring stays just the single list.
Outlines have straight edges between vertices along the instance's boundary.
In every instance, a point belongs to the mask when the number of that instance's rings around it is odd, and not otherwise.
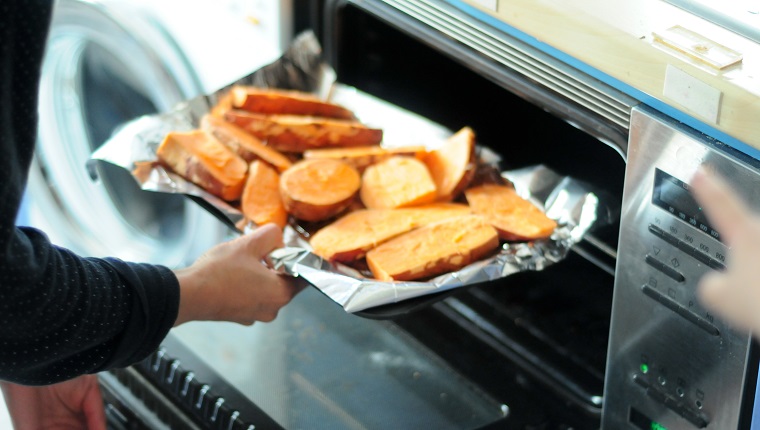
[{"label": "forearm in dark dotted sleeve reaching toward the tray", "polygon": [[165,268],[81,258],[19,230],[0,254],[0,379],[42,385],[152,352],[177,312]]}]

